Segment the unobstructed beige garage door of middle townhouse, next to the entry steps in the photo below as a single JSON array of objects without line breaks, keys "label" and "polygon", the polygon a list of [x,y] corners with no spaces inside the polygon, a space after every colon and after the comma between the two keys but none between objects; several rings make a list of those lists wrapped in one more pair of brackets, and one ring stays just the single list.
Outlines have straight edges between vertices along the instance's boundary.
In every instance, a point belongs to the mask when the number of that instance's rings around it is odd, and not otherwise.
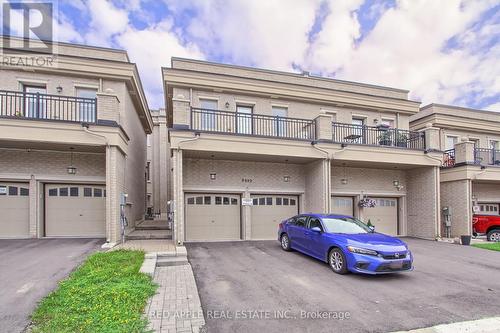
[{"label": "unobstructed beige garage door of middle townhouse, next to the entry steps", "polygon": [[240,196],[186,194],[186,241],[240,239]]}]

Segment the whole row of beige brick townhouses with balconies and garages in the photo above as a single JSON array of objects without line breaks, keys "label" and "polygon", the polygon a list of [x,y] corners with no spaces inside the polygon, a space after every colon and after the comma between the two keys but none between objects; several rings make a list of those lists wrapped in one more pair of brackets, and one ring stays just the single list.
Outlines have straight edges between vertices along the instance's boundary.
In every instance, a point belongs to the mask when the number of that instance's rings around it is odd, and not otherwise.
[{"label": "whole row of beige brick townhouses with balconies and garages", "polygon": [[150,111],[126,52],[57,46],[55,66],[0,65],[0,238],[111,246],[156,218],[179,244],[275,239],[286,217],[332,212],[434,239],[498,214],[498,114],[180,58]]}]

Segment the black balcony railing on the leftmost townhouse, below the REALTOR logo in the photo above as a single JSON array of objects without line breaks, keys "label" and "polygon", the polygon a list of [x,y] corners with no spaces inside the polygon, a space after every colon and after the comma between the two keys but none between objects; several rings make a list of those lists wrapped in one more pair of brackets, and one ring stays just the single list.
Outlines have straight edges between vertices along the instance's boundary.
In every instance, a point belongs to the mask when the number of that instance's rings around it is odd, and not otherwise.
[{"label": "black balcony railing on the leftmost townhouse, below the REALTOR logo", "polygon": [[0,90],[0,117],[95,123],[97,99]]}]

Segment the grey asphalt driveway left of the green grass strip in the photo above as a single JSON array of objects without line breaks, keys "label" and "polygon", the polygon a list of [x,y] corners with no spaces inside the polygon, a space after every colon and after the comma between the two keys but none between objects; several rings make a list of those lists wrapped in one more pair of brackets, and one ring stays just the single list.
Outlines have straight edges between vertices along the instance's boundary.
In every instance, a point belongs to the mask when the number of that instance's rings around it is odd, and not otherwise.
[{"label": "grey asphalt driveway left of the green grass strip", "polygon": [[37,302],[103,242],[98,239],[0,240],[0,331],[23,331]]}]

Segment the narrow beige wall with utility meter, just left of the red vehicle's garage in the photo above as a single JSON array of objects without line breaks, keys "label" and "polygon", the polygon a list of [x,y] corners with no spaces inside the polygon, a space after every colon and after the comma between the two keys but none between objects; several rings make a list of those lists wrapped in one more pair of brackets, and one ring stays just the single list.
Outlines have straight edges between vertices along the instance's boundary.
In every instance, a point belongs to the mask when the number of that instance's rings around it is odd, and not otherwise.
[{"label": "narrow beige wall with utility meter, just left of the red vehicle's garage", "polygon": [[[451,208],[451,236],[470,235],[472,232],[471,181],[457,180],[441,183],[440,198],[441,208]],[[444,230],[442,225],[441,228]]]}]

